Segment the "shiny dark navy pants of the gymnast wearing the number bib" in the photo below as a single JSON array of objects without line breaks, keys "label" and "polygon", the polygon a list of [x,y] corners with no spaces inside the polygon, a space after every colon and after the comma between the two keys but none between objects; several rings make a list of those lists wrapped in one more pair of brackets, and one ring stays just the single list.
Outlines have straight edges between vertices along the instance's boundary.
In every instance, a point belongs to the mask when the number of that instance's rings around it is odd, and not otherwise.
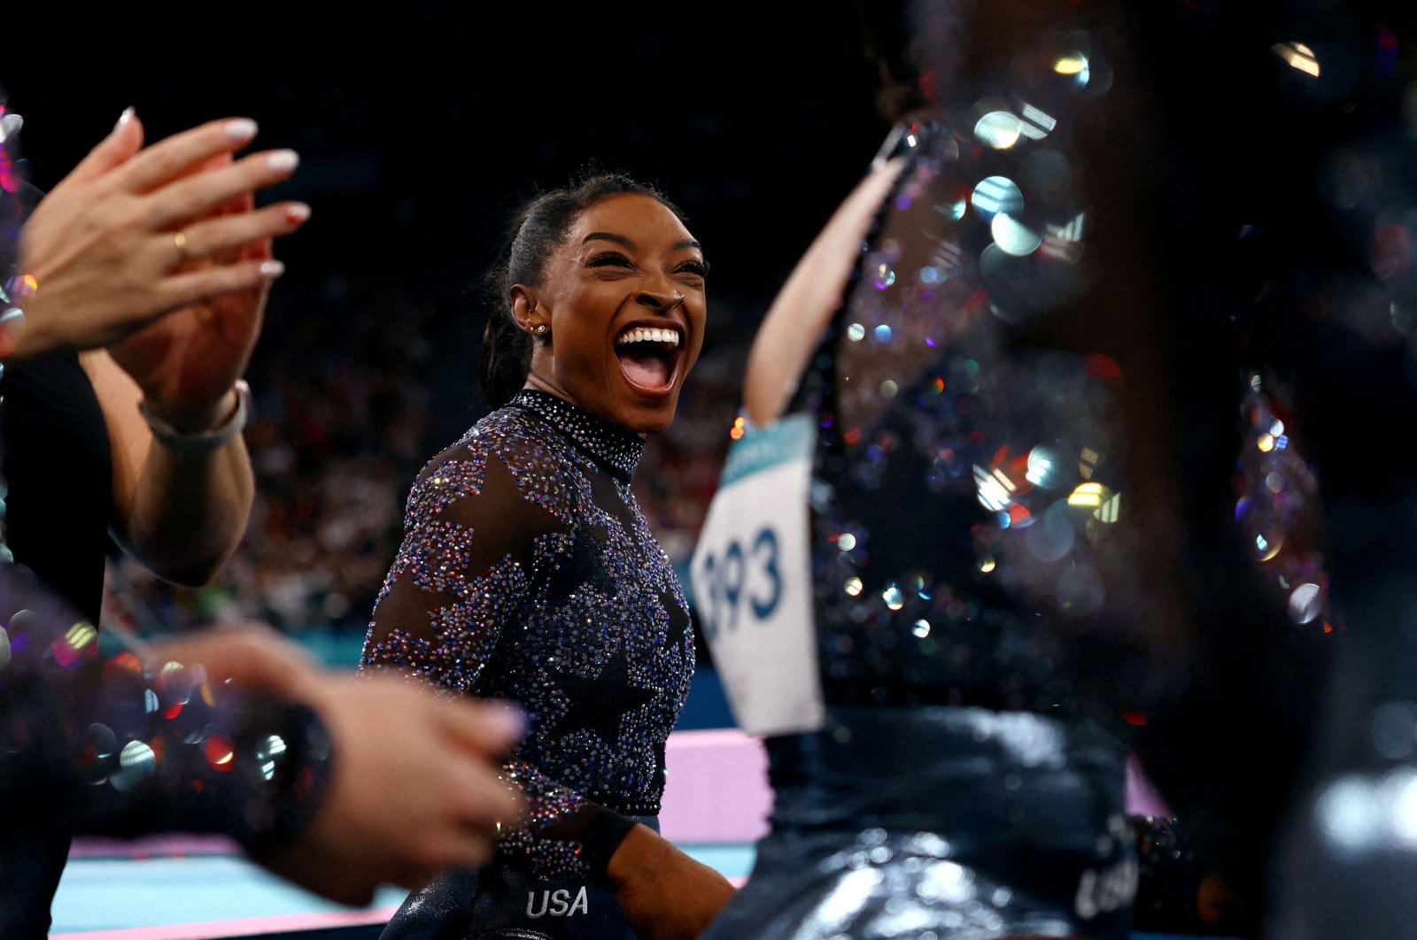
[{"label": "shiny dark navy pants of the gymnast wearing the number bib", "polygon": [[1121,745],[981,708],[836,708],[768,742],[777,803],[704,940],[1127,937]]}]

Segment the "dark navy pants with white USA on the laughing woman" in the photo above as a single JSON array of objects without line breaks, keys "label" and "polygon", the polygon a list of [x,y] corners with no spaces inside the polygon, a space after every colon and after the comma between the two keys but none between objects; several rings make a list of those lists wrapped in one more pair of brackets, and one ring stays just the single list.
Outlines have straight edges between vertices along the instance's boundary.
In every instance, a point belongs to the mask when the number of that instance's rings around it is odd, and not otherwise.
[{"label": "dark navy pants with white USA on the laughing woman", "polygon": [[[632,817],[659,831],[656,817]],[[497,858],[482,871],[444,872],[410,895],[380,940],[636,940],[615,896],[534,878]]]}]

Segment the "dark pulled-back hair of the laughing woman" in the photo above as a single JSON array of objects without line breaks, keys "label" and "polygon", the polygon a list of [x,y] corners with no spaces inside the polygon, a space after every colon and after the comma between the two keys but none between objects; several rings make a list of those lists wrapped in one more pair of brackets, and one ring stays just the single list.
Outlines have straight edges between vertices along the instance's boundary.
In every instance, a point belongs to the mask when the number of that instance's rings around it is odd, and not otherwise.
[{"label": "dark pulled-back hair of the laughing woman", "polygon": [[479,378],[487,403],[500,408],[526,385],[531,368],[531,337],[512,319],[507,303],[512,285],[537,286],[546,262],[565,242],[581,212],[604,198],[621,194],[648,195],[686,221],[663,193],[622,173],[597,173],[571,185],[543,193],[521,207],[506,235],[503,260],[487,272],[486,293],[492,310],[482,334]]}]

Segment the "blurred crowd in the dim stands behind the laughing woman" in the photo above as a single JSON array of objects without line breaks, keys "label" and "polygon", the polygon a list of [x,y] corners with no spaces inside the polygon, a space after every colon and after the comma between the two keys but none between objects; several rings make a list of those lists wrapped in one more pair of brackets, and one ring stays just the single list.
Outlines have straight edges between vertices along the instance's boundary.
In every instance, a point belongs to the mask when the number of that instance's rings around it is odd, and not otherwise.
[{"label": "blurred crowd in the dim stands behind the laughing woman", "polygon": [[[105,619],[140,636],[259,620],[353,665],[410,484],[486,412],[478,304],[470,292],[424,297],[378,272],[286,275],[248,374],[256,495],[241,546],[197,589],[159,580],[115,549]],[[747,304],[710,294],[703,358],[635,478],[686,585],[727,452],[750,320]]]}]

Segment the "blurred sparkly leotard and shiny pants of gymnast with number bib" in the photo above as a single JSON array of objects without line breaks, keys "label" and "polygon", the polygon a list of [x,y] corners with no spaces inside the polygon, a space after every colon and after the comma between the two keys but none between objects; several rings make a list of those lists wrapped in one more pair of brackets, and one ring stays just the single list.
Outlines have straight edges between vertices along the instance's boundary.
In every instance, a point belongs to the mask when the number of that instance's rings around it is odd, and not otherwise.
[{"label": "blurred sparkly leotard and shiny pants of gymnast with number bib", "polygon": [[949,113],[898,129],[904,167],[791,405],[819,429],[826,722],[767,740],[772,832],[708,939],[1128,933],[1121,369],[1027,341],[1085,277],[1061,85],[1020,92],[1049,126],[1007,146]]}]

